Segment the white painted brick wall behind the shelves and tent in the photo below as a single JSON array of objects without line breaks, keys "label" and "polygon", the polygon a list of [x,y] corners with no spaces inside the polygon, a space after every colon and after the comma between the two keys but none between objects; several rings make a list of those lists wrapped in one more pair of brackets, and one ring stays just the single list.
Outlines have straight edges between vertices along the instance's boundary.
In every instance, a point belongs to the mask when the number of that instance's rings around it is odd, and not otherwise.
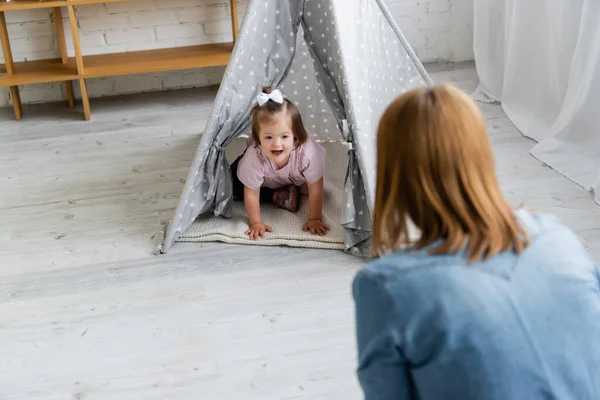
[{"label": "white painted brick wall behind the shelves and tent", "polygon": [[[423,62],[472,60],[473,0],[385,0]],[[248,0],[238,0],[240,21]],[[231,40],[227,0],[138,0],[77,8],[84,54]],[[15,61],[59,57],[50,10],[6,13]],[[66,9],[67,45],[72,48]],[[73,55],[72,49],[70,54]],[[88,79],[90,97],[218,84],[223,67]],[[77,85],[76,85],[77,87]],[[0,88],[0,106],[10,104]],[[21,87],[23,103],[66,99],[64,85]]]}]

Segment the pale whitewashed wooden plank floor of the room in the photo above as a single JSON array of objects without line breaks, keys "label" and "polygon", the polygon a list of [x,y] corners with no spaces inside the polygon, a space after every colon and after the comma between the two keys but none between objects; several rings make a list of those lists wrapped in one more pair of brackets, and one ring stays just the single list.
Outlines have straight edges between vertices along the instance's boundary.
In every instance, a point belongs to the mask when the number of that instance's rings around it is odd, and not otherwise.
[{"label": "pale whitewashed wooden plank floor of the room", "polygon": [[[430,65],[476,87],[473,64]],[[176,244],[170,218],[215,90],[0,111],[0,399],[360,399],[338,251]],[[482,105],[515,203],[558,214],[598,258],[600,207]]]}]

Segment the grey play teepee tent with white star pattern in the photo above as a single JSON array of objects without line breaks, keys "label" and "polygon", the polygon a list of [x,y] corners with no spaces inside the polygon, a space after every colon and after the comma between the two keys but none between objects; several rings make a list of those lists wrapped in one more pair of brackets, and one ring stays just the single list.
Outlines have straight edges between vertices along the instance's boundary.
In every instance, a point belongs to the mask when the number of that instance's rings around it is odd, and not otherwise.
[{"label": "grey play teepee tent with white star pattern", "polygon": [[347,145],[340,204],[344,248],[365,254],[379,118],[394,97],[430,83],[383,0],[250,0],[157,252],[166,253],[200,215],[230,217],[232,180],[225,150],[249,132],[250,108],[261,88],[272,86],[296,103],[317,139]]}]

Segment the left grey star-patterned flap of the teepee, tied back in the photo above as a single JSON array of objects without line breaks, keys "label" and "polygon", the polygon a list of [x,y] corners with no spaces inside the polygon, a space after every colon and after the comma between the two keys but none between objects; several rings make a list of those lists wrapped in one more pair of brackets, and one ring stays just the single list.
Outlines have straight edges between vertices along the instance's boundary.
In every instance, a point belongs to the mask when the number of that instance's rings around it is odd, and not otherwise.
[{"label": "left grey star-patterned flap of the teepee, tied back", "polygon": [[231,212],[231,172],[224,148],[249,126],[263,86],[279,86],[296,48],[303,1],[251,1],[200,139],[179,205],[158,253],[166,253],[198,215]]}]

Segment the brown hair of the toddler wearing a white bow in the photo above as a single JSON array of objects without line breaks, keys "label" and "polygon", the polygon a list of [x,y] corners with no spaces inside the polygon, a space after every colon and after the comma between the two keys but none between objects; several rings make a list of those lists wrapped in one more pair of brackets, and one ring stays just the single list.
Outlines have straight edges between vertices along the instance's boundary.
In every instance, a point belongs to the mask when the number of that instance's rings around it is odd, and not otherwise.
[{"label": "brown hair of the toddler wearing a white bow", "polygon": [[[262,92],[267,94],[270,94],[271,91],[272,88],[270,86],[265,86],[262,89]],[[292,134],[294,135],[296,146],[306,143],[308,134],[304,128],[300,111],[298,111],[294,103],[284,98],[281,104],[274,101],[267,101],[262,106],[255,104],[250,110],[250,116],[252,117],[252,139],[256,146],[260,144],[260,124],[272,121],[277,114],[282,112],[286,113],[291,121]]]}]

